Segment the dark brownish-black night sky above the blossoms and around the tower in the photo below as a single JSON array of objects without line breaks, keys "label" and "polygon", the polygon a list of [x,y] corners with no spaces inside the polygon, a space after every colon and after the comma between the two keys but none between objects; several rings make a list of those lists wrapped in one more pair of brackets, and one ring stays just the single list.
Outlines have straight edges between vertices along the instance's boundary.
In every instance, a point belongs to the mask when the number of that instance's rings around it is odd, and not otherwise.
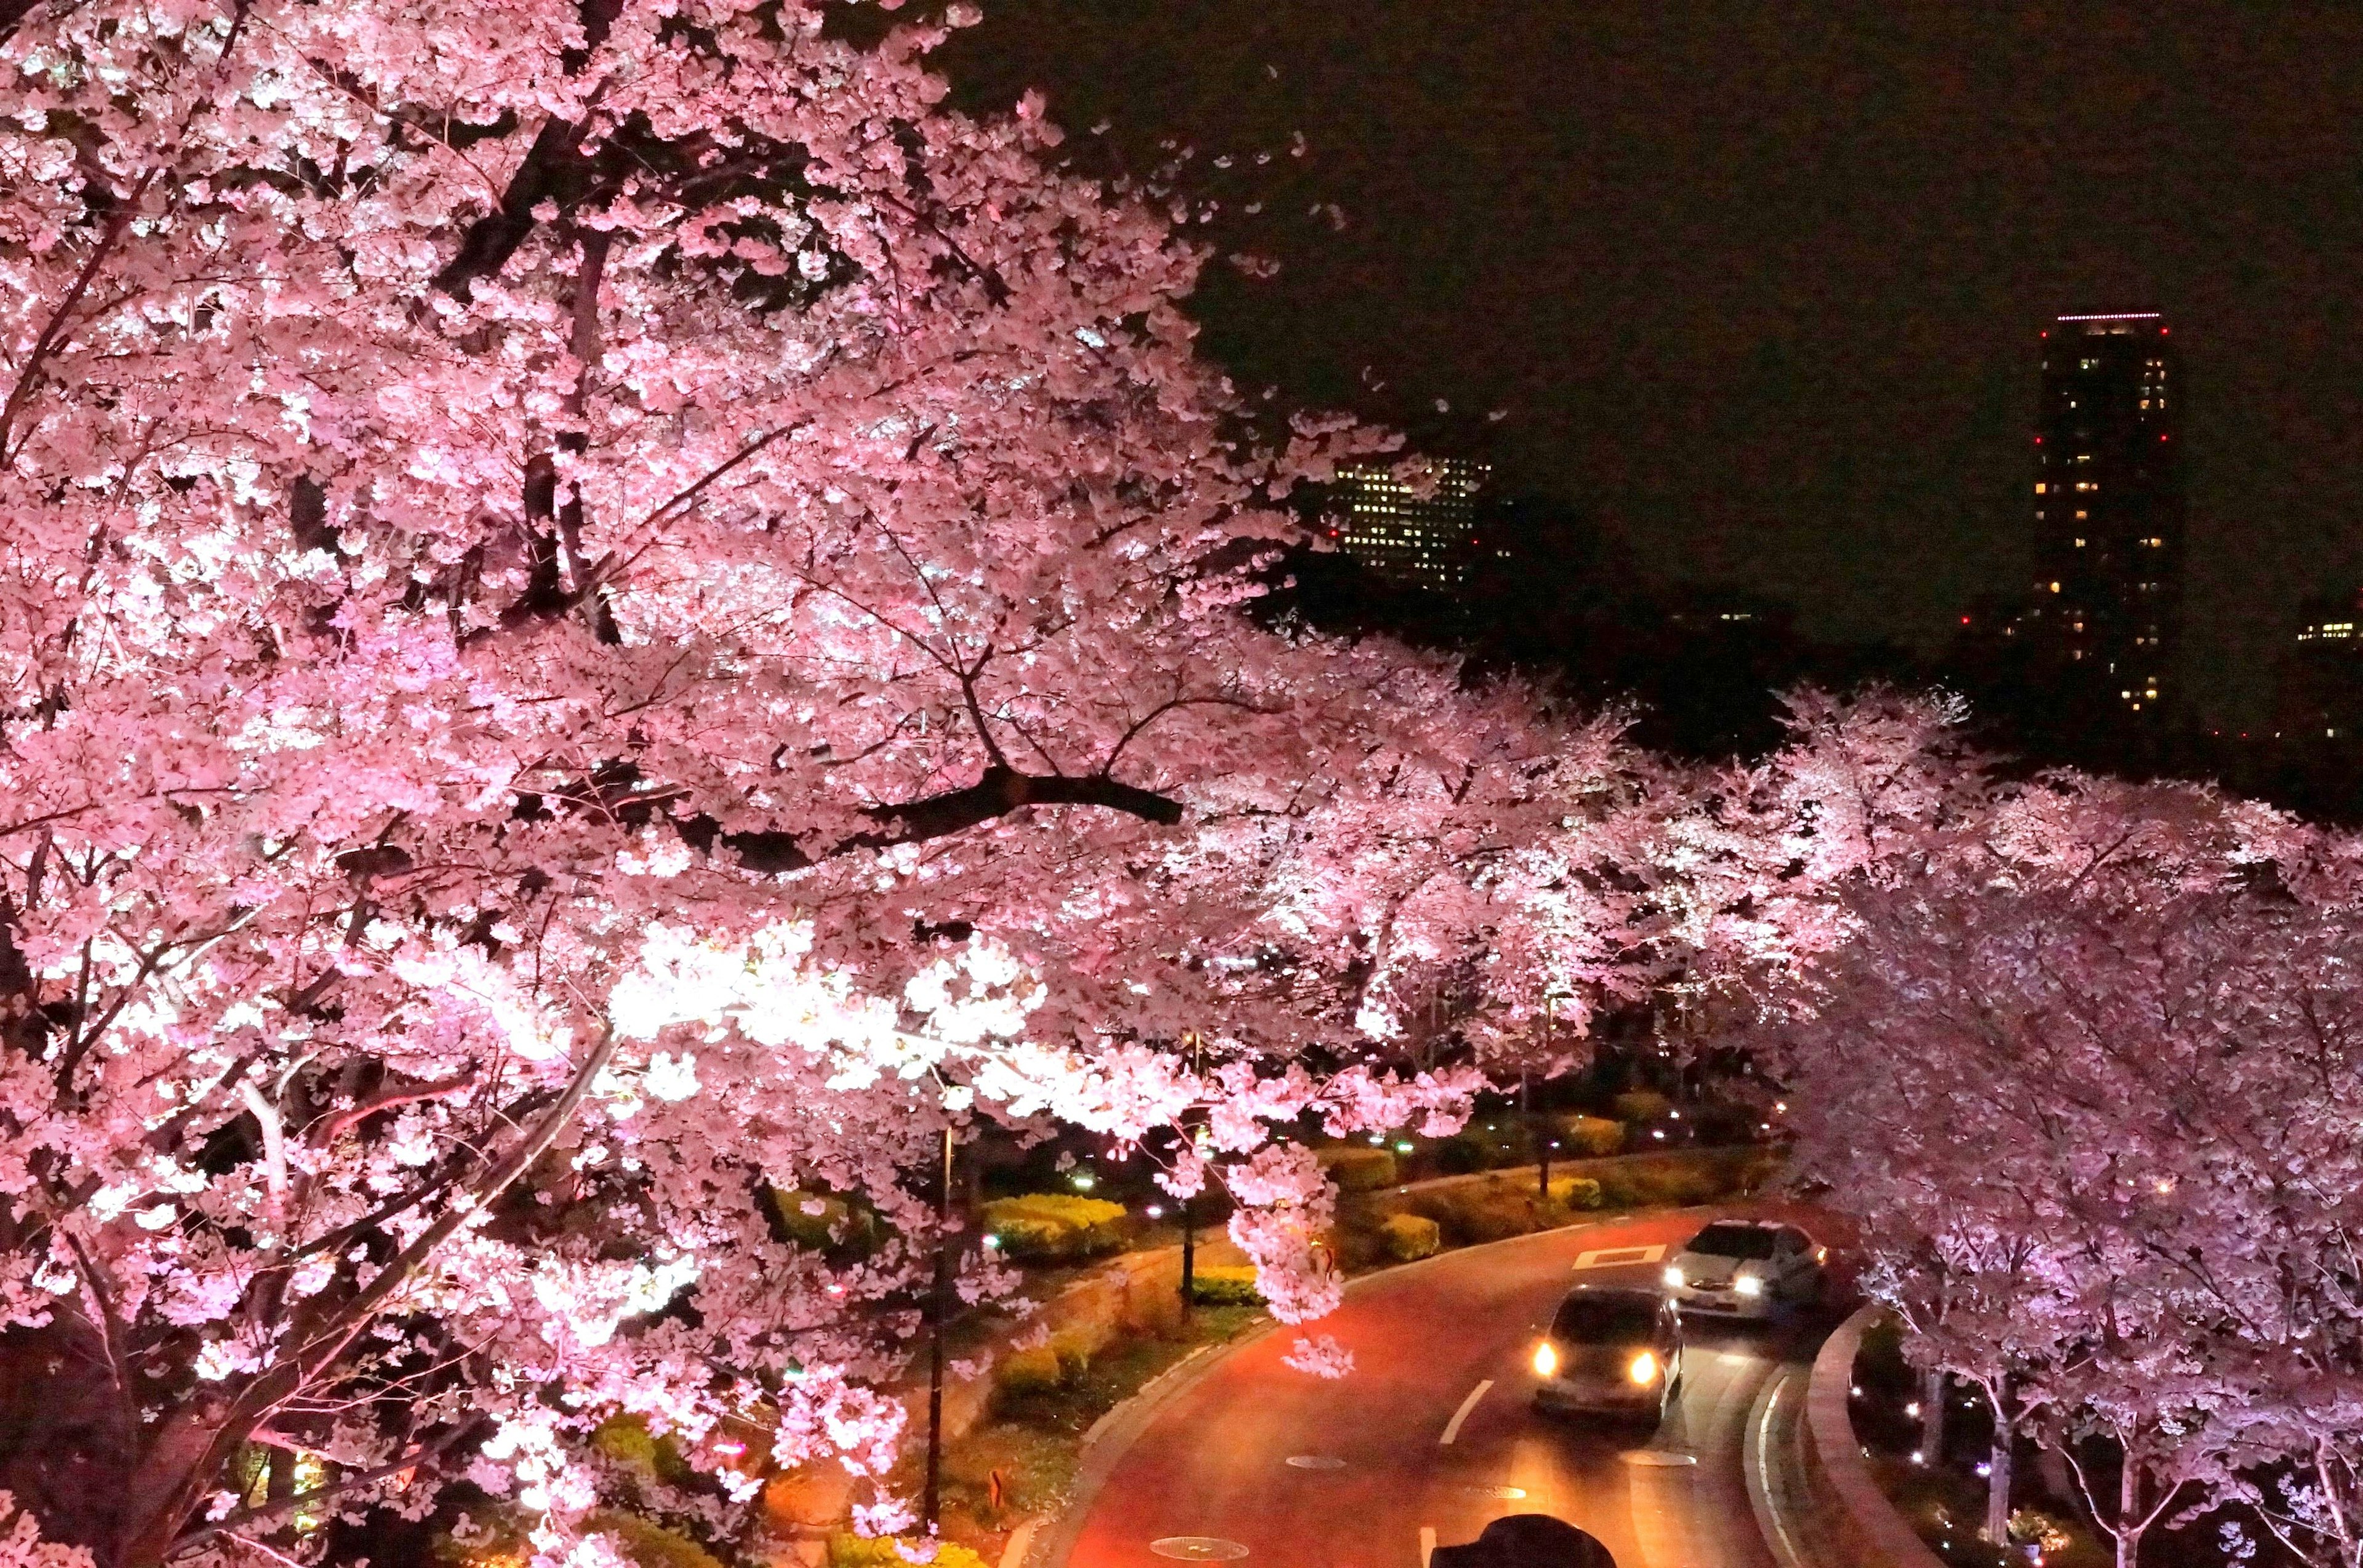
[{"label": "dark brownish-black night sky above the blossoms and around the tower", "polygon": [[1205,231],[1283,262],[1198,300],[1243,385],[1489,437],[1808,631],[1931,645],[2018,586],[2037,331],[2075,309],[2183,345],[2214,716],[2363,581],[2358,5],[992,0],[950,66],[1089,156],[1198,151]]}]

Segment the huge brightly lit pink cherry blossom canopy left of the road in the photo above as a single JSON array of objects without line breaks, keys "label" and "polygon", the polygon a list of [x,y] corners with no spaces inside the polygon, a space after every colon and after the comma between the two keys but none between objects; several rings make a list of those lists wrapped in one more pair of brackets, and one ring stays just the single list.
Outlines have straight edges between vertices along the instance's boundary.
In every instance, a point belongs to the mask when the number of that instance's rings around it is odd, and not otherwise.
[{"label": "huge brightly lit pink cherry blossom canopy left of the road", "polygon": [[1203,1124],[1316,1315],[1269,1126],[1449,1126],[1444,978],[1493,1053],[1630,989],[1600,871],[1678,782],[1259,623],[1373,437],[1238,399],[1203,255],[893,9],[0,0],[0,1311],[54,1370],[0,1481],[52,1540],[236,1556],[260,1448],[605,1561],[619,1412],[877,1474],[948,1124]]}]

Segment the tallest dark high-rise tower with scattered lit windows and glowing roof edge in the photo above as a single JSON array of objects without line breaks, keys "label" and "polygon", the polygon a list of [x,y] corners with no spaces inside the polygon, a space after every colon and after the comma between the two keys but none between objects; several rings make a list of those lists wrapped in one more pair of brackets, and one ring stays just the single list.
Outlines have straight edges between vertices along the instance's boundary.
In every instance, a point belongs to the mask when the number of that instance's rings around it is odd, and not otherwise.
[{"label": "tallest dark high-rise tower with scattered lit windows and glowing roof edge", "polygon": [[2148,727],[2181,697],[2181,359],[2157,314],[2061,316],[2042,345],[2025,628],[2063,697]]}]

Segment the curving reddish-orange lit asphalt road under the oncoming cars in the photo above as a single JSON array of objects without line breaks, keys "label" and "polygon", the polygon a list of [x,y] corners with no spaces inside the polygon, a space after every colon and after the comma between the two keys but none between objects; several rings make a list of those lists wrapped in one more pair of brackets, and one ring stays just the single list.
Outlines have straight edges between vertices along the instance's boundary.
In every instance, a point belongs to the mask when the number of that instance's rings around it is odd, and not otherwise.
[{"label": "curving reddish-orange lit asphalt road under the oncoming cars", "polygon": [[[1734,1214],[1763,1211],[1734,1207]],[[1153,1405],[1063,1559],[1049,1568],[1425,1568],[1503,1514],[1590,1530],[1619,1568],[1794,1568],[1779,1492],[1751,1500],[1803,1367],[1831,1318],[1687,1325],[1687,1374],[1666,1424],[1543,1417],[1526,1355],[1576,1280],[1654,1280],[1706,1211],[1560,1230],[1453,1252],[1359,1282],[1326,1325],[1356,1372],[1281,1365],[1281,1327]],[[1753,1419],[1751,1419],[1753,1415]],[[1779,1551],[1772,1540],[1791,1535]],[[1768,1540],[1770,1537],[1770,1540]]]}]

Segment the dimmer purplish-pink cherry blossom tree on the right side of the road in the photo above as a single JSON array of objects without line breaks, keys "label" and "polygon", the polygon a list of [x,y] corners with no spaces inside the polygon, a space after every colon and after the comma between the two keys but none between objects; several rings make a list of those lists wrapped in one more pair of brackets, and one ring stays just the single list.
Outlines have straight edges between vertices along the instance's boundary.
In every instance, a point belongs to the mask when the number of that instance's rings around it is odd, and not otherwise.
[{"label": "dimmer purplish-pink cherry blossom tree on the right side of the road", "polygon": [[[1829,883],[1841,937],[1770,1032],[1867,1282],[2070,1459],[2120,1563],[2226,1500],[2342,1561],[2354,845],[1973,765],[1914,815]],[[1999,1535],[2006,1443],[1990,1466]]]}]

